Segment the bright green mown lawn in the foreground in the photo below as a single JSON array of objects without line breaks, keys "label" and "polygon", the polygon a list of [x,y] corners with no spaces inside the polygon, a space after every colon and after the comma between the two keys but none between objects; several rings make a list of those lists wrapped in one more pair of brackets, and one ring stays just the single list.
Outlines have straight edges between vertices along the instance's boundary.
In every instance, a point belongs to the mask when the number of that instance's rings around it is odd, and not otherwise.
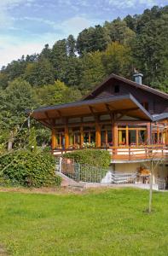
[{"label": "bright green mown lawn in the foreground", "polygon": [[9,255],[168,255],[168,194],[108,189],[83,195],[0,193]]}]

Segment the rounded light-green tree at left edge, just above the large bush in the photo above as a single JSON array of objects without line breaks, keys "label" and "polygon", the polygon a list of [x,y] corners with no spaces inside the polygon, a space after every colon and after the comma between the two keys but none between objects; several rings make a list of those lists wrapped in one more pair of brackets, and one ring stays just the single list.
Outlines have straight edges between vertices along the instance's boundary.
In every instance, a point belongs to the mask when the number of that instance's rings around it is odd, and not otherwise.
[{"label": "rounded light-green tree at left edge, just above the large bush", "polygon": [[17,132],[24,127],[26,108],[34,108],[36,105],[32,86],[22,79],[14,79],[0,94],[0,127],[9,134],[9,149],[13,147]]}]

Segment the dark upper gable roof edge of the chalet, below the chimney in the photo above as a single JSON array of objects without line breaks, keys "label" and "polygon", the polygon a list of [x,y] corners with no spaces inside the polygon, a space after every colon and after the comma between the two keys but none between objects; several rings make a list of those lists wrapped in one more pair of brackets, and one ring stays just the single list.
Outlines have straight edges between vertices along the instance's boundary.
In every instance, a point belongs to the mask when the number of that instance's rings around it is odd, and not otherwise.
[{"label": "dark upper gable roof edge of the chalet, below the chimney", "polygon": [[125,79],[123,77],[120,77],[119,75],[116,75],[114,73],[112,73],[110,76],[107,77],[107,79],[105,79],[101,84],[97,85],[95,89],[91,90],[89,94],[87,94],[86,96],[83,97],[83,100],[88,100],[90,99],[91,96],[94,96],[94,94],[96,93],[97,90],[101,89],[101,87],[107,83],[108,80],[110,79],[117,79],[119,81],[122,81],[124,82],[125,84],[130,84],[130,85],[133,85],[135,86],[136,88],[138,89],[141,89],[141,90],[146,90],[148,92],[151,92],[153,93],[154,95],[157,95],[157,96],[160,96],[160,97],[163,97],[165,99],[168,100],[168,94],[165,93],[165,92],[162,92],[160,90],[156,90],[152,87],[149,87],[148,85],[145,85],[145,84],[137,84],[136,82],[134,81],[131,81],[129,79]]}]

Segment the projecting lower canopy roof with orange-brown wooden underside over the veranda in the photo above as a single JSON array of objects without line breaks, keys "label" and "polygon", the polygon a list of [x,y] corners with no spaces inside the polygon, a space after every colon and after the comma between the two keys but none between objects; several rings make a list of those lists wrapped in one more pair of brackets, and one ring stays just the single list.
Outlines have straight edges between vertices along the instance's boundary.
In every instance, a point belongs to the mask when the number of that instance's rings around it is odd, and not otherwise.
[{"label": "projecting lower canopy roof with orange-brown wooden underside over the veranda", "polygon": [[153,120],[150,113],[130,94],[36,108],[33,111],[26,110],[26,113],[31,114],[32,118],[38,121],[43,121],[44,119],[59,119],[63,117],[68,118],[87,114],[106,113],[107,110],[112,111],[112,113],[126,113],[129,116],[139,119]]}]

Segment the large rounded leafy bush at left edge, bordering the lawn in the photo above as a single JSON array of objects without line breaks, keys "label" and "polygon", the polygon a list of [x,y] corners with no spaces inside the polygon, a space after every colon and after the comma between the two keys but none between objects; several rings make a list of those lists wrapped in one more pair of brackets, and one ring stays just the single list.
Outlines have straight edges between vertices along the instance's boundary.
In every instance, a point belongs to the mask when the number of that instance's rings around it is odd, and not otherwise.
[{"label": "large rounded leafy bush at left edge, bordering the lawn", "polygon": [[0,183],[26,187],[49,187],[61,184],[55,175],[55,157],[49,153],[20,150],[0,158]]}]

